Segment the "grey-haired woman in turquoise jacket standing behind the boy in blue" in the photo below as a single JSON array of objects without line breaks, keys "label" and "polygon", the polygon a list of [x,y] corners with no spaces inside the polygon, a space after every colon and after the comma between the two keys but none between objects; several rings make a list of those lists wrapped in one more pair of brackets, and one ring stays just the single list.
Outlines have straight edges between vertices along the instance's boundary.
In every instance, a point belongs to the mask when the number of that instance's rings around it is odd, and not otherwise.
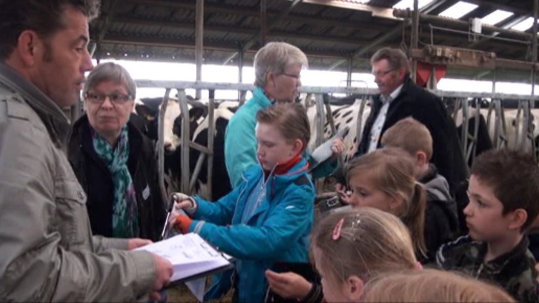
[{"label": "grey-haired woman in turquoise jacket standing behind the boy in blue", "polygon": [[[242,173],[247,167],[258,164],[255,115],[275,102],[294,102],[301,86],[301,70],[307,67],[305,53],[285,42],[270,42],[255,54],[253,97],[238,109],[226,127],[225,163],[232,188],[243,181]],[[336,160],[344,149],[342,140],[335,140],[332,149]],[[312,173],[314,177],[326,176],[335,168],[333,161],[318,166]]]}]

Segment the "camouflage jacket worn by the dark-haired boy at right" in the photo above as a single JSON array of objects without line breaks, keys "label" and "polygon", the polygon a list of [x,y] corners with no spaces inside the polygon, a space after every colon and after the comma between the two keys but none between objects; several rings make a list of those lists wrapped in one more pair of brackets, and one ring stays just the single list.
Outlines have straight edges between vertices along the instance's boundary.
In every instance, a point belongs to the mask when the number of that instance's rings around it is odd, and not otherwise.
[{"label": "camouflage jacket worn by the dark-haired boy at right", "polygon": [[463,236],[444,244],[436,254],[436,263],[444,270],[460,271],[467,276],[497,284],[519,302],[538,302],[535,259],[523,237],[515,248],[489,262],[483,262],[487,244]]}]

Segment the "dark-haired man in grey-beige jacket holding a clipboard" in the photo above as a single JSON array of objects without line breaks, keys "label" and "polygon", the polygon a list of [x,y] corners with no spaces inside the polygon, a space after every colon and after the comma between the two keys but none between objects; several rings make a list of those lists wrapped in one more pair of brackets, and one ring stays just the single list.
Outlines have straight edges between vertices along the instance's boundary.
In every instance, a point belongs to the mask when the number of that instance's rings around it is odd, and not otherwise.
[{"label": "dark-haired man in grey-beige jacket holding a clipboard", "polygon": [[66,158],[96,0],[0,0],[0,301],[133,301],[169,261],[142,239],[92,236],[86,194]]}]

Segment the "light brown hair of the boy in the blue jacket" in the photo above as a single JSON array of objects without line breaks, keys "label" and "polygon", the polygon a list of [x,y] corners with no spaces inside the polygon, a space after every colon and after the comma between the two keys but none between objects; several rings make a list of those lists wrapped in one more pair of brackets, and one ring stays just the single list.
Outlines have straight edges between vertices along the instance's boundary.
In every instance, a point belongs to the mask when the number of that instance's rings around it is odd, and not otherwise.
[{"label": "light brown hair of the boy in the blue jacket", "polygon": [[301,153],[305,152],[310,140],[309,118],[299,103],[276,103],[257,112],[257,121],[277,126],[288,142],[300,139]]}]

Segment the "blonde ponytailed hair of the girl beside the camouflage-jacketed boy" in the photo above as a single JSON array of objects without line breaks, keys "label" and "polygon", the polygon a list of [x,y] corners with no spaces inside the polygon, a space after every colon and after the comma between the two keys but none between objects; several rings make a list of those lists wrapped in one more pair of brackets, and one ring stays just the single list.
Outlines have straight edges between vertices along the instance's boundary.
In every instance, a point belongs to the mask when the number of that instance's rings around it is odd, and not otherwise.
[{"label": "blonde ponytailed hair of the girl beside the camouflage-jacketed boy", "polygon": [[356,174],[369,171],[376,187],[401,198],[399,218],[410,229],[416,252],[425,256],[424,239],[426,196],[423,185],[413,177],[414,163],[400,148],[383,148],[354,159],[348,168],[348,183]]}]

